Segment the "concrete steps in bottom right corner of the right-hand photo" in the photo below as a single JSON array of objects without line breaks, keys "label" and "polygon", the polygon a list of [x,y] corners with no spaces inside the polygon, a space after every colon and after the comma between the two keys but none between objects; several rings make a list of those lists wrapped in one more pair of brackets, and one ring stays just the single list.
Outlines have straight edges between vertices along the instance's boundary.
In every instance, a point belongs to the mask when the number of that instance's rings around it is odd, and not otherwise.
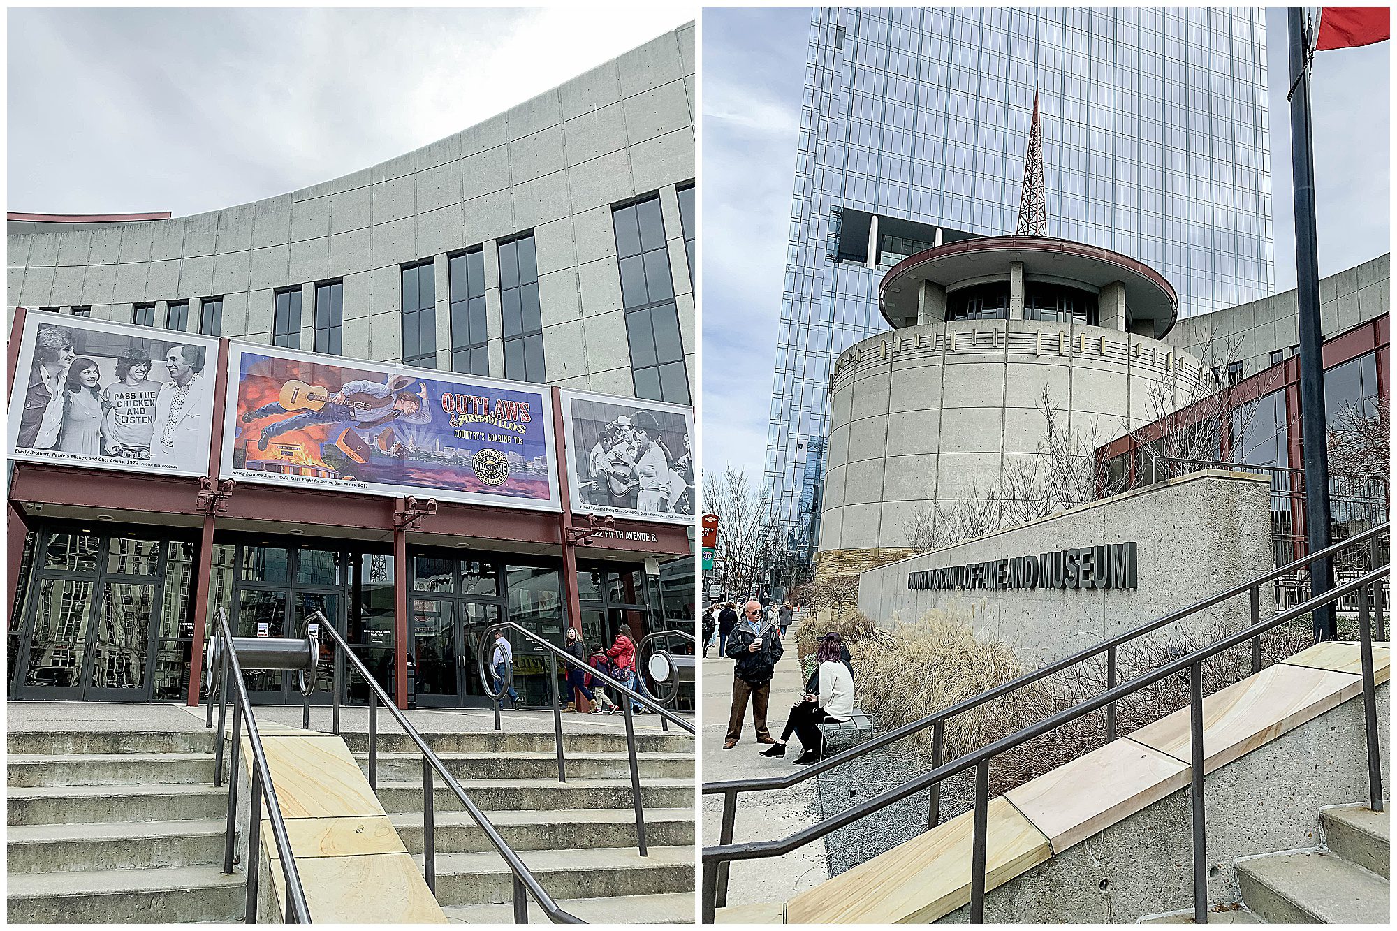
[{"label": "concrete steps in bottom right corner of the right-hand photo", "polygon": [[1387,924],[1387,812],[1350,805],[1319,818],[1323,846],[1236,861],[1243,904],[1270,924]]}]

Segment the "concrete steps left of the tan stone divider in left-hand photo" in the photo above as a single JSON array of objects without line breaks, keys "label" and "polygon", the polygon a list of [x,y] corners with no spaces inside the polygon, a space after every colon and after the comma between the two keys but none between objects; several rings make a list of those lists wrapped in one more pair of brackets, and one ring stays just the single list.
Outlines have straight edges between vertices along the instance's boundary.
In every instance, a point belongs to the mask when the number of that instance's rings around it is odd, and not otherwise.
[{"label": "concrete steps left of the tan stone divider in left-hand photo", "polygon": [[11,732],[10,923],[240,921],[208,732]]}]

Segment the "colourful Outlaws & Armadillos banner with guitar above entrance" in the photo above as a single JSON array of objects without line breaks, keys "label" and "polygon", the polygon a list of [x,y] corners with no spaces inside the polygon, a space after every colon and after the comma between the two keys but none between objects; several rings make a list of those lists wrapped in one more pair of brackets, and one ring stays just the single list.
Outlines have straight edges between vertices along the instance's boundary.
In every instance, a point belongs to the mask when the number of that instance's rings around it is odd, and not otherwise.
[{"label": "colourful Outlaws & Armadillos banner with guitar above entrance", "polygon": [[548,389],[235,344],[222,475],[559,510]]}]

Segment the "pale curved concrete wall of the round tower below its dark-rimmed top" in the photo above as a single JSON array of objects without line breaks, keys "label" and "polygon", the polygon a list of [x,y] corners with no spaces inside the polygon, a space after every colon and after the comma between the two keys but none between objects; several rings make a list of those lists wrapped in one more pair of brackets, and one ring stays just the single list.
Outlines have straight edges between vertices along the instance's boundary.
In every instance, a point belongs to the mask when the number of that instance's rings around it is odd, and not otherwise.
[{"label": "pale curved concrete wall of the round tower below its dark-rimmed top", "polygon": [[820,526],[830,551],[908,545],[932,502],[981,500],[1016,457],[1039,456],[1048,389],[1074,435],[1101,442],[1193,400],[1197,359],[1148,337],[1037,320],[907,327],[865,340],[831,379]]}]

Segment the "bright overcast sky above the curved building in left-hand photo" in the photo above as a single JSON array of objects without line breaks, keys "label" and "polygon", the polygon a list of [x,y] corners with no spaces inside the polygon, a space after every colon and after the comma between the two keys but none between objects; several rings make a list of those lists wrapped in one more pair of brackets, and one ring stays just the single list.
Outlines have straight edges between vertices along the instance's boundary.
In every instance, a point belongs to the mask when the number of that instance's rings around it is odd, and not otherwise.
[{"label": "bright overcast sky above the curved building in left-hand photo", "polygon": [[696,17],[549,10],[8,11],[10,211],[176,217],[479,123]]}]

